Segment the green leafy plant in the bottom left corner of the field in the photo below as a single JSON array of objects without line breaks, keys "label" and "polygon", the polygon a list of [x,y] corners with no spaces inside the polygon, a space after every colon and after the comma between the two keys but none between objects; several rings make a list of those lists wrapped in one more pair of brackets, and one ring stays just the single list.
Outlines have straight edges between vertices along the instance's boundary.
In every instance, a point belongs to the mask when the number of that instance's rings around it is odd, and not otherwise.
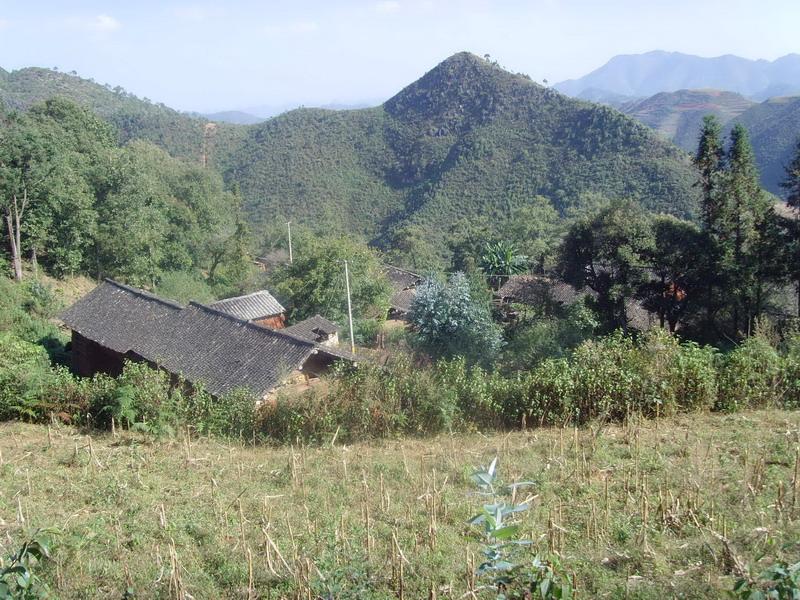
[{"label": "green leafy plant in the bottom left corner of the field", "polygon": [[50,589],[33,567],[50,558],[50,543],[45,530],[37,530],[19,550],[0,560],[0,600],[35,600],[50,598]]}]

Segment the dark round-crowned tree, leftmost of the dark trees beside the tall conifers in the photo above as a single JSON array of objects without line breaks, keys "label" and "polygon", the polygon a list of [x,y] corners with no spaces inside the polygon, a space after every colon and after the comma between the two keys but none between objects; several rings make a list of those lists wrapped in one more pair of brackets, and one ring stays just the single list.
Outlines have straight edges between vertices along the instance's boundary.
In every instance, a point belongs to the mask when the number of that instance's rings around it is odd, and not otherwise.
[{"label": "dark round-crowned tree, leftmost of the dark trees beside the tall conifers", "polygon": [[596,293],[594,305],[606,329],[627,329],[626,301],[647,280],[644,255],[652,244],[642,208],[629,200],[613,201],[570,227],[558,270],[567,283]]}]

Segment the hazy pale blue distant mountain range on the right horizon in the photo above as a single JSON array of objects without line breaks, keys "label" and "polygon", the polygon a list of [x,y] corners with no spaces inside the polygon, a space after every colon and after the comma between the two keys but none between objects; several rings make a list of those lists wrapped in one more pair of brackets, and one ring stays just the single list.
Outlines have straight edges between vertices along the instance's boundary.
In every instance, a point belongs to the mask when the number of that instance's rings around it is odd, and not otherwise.
[{"label": "hazy pale blue distant mountain range on the right horizon", "polygon": [[591,90],[595,100],[602,94],[649,97],[683,89],[719,89],[755,100],[780,93],[800,93],[800,54],[774,61],[749,60],[727,54],[704,58],[680,52],[654,51],[615,56],[580,79],[556,84],[570,96]]}]

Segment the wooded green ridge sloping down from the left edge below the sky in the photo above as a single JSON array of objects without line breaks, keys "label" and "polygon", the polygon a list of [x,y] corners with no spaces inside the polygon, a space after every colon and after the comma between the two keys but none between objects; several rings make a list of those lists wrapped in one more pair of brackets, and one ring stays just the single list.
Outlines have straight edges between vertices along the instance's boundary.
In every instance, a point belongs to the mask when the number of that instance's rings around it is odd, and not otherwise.
[{"label": "wooded green ridge sloping down from the left edge below the sky", "polygon": [[0,74],[0,105],[24,110],[54,96],[69,98],[111,122],[119,133],[119,142],[144,139],[161,146],[171,155],[200,162],[204,152],[229,148],[239,135],[239,128],[153,104],[137,98],[121,87],[112,88],[77,75],[30,67]]}]

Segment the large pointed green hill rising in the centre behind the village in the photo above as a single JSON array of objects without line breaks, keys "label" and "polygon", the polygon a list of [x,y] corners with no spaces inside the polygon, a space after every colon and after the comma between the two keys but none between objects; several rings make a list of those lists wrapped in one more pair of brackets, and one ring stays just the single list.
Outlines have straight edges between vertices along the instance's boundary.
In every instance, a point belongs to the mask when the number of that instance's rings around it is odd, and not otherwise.
[{"label": "large pointed green hill rising in the centre behind the village", "polygon": [[536,194],[584,192],[692,212],[687,158],[646,127],[472,54],[456,54],[380,107],[300,109],[248,129],[226,166],[256,222],[279,215],[389,244],[483,215],[498,229]]}]

